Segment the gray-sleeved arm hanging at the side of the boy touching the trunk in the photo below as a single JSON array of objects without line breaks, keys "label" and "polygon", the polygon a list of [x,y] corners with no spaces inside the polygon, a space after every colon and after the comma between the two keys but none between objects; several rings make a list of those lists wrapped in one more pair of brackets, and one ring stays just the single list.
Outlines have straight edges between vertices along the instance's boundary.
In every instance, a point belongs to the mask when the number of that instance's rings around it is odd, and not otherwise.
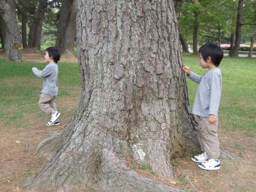
[{"label": "gray-sleeved arm hanging at the side of the boy touching the trunk", "polygon": [[217,120],[218,108],[221,98],[221,78],[217,73],[213,73],[210,82],[210,108],[208,121],[214,123]]}]

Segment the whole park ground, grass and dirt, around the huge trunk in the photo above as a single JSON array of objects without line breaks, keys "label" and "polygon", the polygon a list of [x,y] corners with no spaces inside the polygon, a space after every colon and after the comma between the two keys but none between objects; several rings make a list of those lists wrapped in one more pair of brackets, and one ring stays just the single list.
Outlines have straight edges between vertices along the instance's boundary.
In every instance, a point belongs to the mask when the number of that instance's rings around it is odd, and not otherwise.
[{"label": "whole park ground, grass and dirt, around the huge trunk", "polygon": [[[38,109],[42,80],[31,73],[43,69],[43,53],[26,50],[24,63],[11,63],[0,54],[0,192],[22,191],[23,178],[48,162],[36,146],[52,132],[61,131],[72,118],[80,97],[79,68],[75,60],[60,60],[57,99],[61,125],[47,127],[48,116]],[[68,63],[65,63],[68,62]],[[198,57],[183,62],[204,73]],[[224,58],[223,96],[219,112],[220,145],[239,160],[223,159],[220,171],[203,171],[190,156],[172,159],[175,177],[161,178],[148,166],[131,164],[139,174],[186,191],[255,191],[256,188],[256,75],[255,58]],[[197,85],[187,80],[191,105]]]}]

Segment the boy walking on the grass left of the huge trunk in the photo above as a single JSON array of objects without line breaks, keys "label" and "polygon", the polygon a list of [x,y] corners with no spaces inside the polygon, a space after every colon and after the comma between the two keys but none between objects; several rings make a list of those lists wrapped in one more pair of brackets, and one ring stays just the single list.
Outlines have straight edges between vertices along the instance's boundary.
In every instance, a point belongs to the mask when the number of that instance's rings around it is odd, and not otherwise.
[{"label": "boy walking on the grass left of the huge trunk", "polygon": [[43,70],[38,70],[37,68],[32,68],[33,73],[38,77],[43,77],[43,88],[38,101],[38,105],[46,112],[46,114],[51,114],[49,122],[46,125],[53,126],[60,124],[58,117],[60,112],[57,111],[55,98],[58,95],[58,60],[60,60],[60,52],[57,48],[50,47],[46,48],[45,55],[46,68]]}]

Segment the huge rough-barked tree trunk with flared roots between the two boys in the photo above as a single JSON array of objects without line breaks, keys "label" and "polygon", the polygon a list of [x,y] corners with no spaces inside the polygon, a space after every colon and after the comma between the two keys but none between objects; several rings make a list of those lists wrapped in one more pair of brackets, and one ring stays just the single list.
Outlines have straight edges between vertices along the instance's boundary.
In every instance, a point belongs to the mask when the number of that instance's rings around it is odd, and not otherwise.
[{"label": "huge rough-barked tree trunk with flared roots between the two boys", "polygon": [[39,147],[50,163],[35,191],[179,191],[139,176],[127,159],[173,176],[197,151],[173,1],[78,0],[80,104]]}]

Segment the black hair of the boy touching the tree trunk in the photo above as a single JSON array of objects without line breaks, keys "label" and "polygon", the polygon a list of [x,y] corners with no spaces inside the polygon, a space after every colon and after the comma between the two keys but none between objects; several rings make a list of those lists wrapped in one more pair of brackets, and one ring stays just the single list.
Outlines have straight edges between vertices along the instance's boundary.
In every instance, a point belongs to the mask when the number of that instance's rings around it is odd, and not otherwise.
[{"label": "black hair of the boy touching the tree trunk", "polygon": [[220,65],[220,61],[223,59],[223,49],[215,43],[204,44],[199,48],[198,53],[201,53],[205,61],[210,57],[216,67]]}]

